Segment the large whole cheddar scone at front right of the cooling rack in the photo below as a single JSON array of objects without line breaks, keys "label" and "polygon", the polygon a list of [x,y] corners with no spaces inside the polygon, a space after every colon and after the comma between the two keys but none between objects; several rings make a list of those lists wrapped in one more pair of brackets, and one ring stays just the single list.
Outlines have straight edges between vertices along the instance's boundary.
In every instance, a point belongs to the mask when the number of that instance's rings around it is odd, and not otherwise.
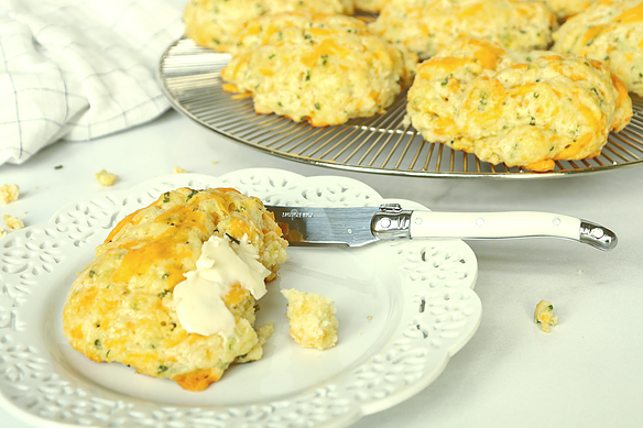
[{"label": "large whole cheddar scone at front right of the cooling rack", "polygon": [[598,156],[632,101],[598,61],[461,39],[417,67],[407,113],[428,142],[544,172]]}]

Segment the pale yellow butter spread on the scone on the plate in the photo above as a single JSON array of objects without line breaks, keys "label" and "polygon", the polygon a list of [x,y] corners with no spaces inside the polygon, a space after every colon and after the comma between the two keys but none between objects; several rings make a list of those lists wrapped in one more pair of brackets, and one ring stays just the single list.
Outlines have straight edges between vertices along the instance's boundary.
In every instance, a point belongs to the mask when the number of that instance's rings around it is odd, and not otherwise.
[{"label": "pale yellow butter spread on the scone on the plate", "polygon": [[181,326],[189,333],[201,336],[232,334],[235,317],[224,298],[235,284],[261,298],[270,275],[259,261],[259,251],[248,235],[237,242],[210,237],[204,242],[196,270],[185,274],[185,281],[174,287],[173,298]]}]

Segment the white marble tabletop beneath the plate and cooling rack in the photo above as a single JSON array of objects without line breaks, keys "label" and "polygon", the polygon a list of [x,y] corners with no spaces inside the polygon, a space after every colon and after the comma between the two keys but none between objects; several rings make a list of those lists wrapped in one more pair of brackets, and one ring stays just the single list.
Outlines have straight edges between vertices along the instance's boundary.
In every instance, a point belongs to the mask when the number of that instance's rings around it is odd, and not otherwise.
[{"label": "white marble tabletop beneath the plate and cooling rack", "polygon": [[[100,140],[55,143],[24,165],[0,166],[0,184],[22,190],[0,215],[41,223],[62,205],[105,191],[94,179],[101,168],[120,176],[117,188],[130,188],[173,165],[210,175],[266,166],[346,175],[433,210],[554,211],[611,228],[619,237],[612,252],[556,239],[470,241],[483,308],[478,332],[435,383],[355,427],[643,426],[643,166],[536,180],[349,173],[270,156],[168,112]],[[548,334],[533,323],[542,298],[559,319]],[[0,408],[0,426],[52,425],[31,425]]]}]

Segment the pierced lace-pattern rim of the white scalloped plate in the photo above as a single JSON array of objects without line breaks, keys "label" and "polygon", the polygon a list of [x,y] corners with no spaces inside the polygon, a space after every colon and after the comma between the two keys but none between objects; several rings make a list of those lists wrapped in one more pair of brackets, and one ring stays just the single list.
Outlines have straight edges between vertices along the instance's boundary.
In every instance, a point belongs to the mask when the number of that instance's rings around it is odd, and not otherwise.
[{"label": "pierced lace-pattern rim of the white scalloped plate", "polygon": [[[57,210],[45,224],[10,233],[0,240],[0,284],[4,292],[0,294],[0,403],[8,410],[32,424],[59,427],[129,427],[153,421],[155,427],[170,428],[209,418],[217,427],[252,420],[257,427],[295,428],[303,425],[287,415],[296,409],[301,418],[309,417],[307,427],[344,427],[425,388],[479,326],[481,304],[472,290],[477,261],[465,242],[382,242],[371,244],[372,251],[383,252],[397,267],[402,293],[399,323],[385,344],[356,367],[345,367],[306,394],[295,397],[291,393],[287,398],[241,406],[174,407],[118,399],[111,391],[88,386],[59,370],[45,343],[45,329],[51,326],[44,325],[46,317],[39,310],[44,312],[52,305],[51,296],[62,286],[50,287],[47,279],[77,268],[74,256],[92,252],[91,240],[106,235],[124,215],[182,186],[236,187],[273,205],[366,206],[388,201],[368,185],[347,177],[304,177],[272,168],[241,169],[219,177],[175,174],[129,190],[79,199]],[[424,208],[413,201],[401,202]],[[29,310],[31,316],[25,314]]]}]

